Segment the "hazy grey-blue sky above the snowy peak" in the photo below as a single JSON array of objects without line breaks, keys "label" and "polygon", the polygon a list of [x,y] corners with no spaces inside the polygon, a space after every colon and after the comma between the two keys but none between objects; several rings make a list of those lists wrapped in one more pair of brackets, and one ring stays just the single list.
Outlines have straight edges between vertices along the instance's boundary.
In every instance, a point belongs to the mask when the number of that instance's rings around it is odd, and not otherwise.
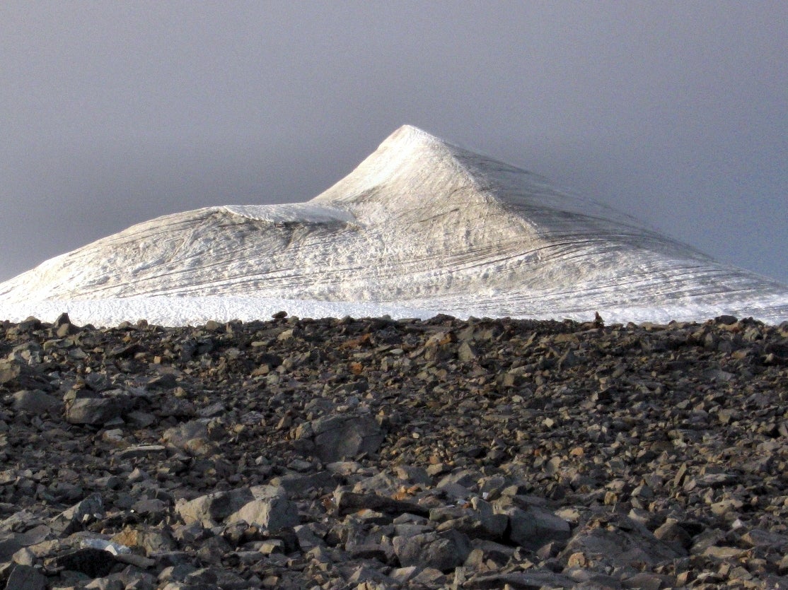
[{"label": "hazy grey-blue sky above the snowy peak", "polygon": [[788,2],[0,3],[0,280],[402,124],[788,282]]}]

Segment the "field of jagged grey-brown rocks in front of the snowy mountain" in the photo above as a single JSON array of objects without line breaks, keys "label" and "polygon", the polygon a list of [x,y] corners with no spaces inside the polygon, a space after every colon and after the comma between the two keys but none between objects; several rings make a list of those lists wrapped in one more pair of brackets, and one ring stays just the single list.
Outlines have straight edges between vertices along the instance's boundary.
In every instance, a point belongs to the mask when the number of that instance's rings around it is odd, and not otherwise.
[{"label": "field of jagged grey-brown rocks in front of the snowy mountain", "polygon": [[0,323],[6,588],[788,588],[788,325]]}]

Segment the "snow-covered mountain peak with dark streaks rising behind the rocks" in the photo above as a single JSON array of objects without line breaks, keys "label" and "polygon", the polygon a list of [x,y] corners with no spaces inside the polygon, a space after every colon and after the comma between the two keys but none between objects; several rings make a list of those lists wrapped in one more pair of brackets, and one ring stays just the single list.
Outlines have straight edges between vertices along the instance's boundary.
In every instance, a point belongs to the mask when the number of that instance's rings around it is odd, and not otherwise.
[{"label": "snow-covered mountain peak with dark streaks rising behind the rocks", "polygon": [[251,319],[265,317],[268,300],[288,300],[292,313],[297,300],[329,302],[331,314],[367,304],[357,309],[788,319],[779,282],[410,126],[307,203],[159,217],[0,284],[0,315],[103,308],[93,323],[136,319],[118,310],[151,302],[170,309],[163,323],[199,322],[216,305],[227,317],[215,319]]}]

